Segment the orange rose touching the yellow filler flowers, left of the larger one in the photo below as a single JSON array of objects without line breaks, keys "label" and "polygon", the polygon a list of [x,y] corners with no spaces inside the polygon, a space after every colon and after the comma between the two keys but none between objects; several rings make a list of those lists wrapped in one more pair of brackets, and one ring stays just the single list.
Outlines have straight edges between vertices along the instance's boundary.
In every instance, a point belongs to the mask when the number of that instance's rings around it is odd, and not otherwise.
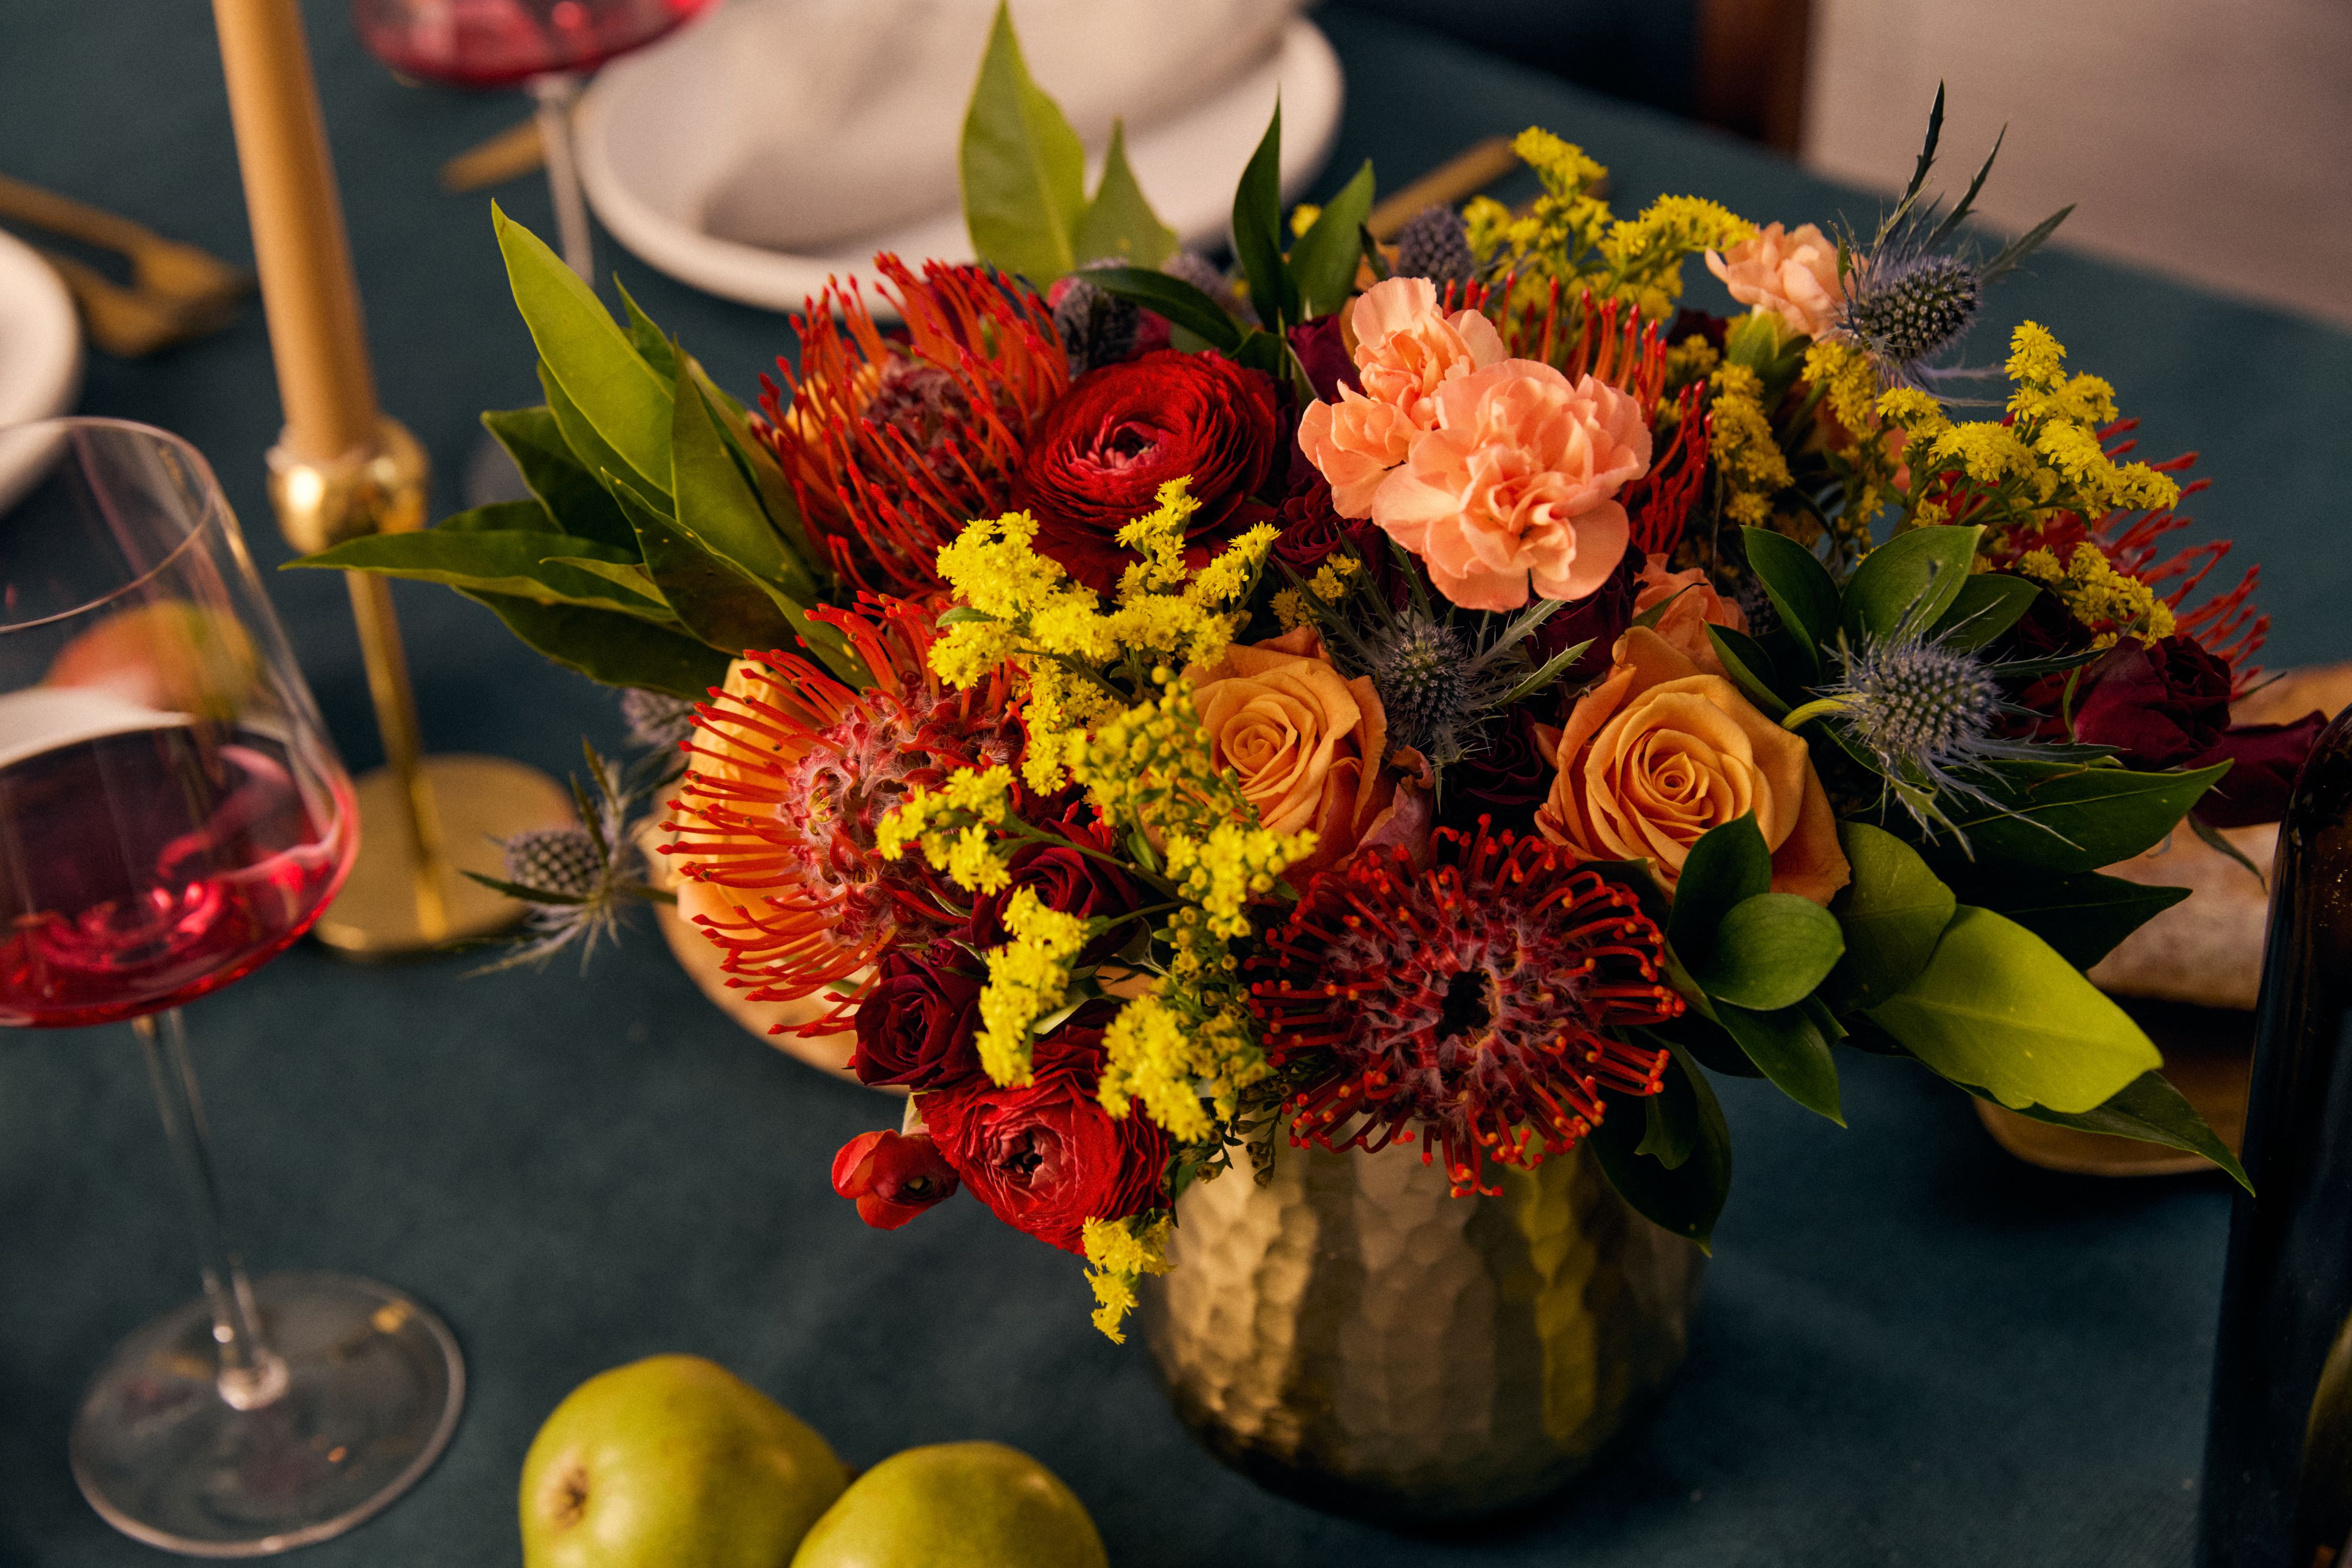
[{"label": "orange rose touching the yellow filler flowers, left of the larger one", "polygon": [[1315,853],[1289,872],[1294,884],[1367,839],[1406,839],[1428,825],[1428,795],[1381,766],[1388,717],[1371,679],[1341,675],[1315,628],[1225,649],[1214,665],[1188,668],[1185,679],[1211,759],[1242,780],[1258,823],[1315,830]]}]

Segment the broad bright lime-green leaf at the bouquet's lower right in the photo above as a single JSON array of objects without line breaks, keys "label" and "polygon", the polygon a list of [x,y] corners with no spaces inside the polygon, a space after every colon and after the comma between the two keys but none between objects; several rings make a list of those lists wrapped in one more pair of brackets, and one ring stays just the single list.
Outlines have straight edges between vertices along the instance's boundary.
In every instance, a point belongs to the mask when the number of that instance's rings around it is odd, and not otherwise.
[{"label": "broad bright lime-green leaf at the bouquet's lower right", "polygon": [[2011,1110],[2086,1112],[2164,1065],[2058,950],[1976,905],[1959,905],[1926,969],[1867,1016],[1938,1074]]}]

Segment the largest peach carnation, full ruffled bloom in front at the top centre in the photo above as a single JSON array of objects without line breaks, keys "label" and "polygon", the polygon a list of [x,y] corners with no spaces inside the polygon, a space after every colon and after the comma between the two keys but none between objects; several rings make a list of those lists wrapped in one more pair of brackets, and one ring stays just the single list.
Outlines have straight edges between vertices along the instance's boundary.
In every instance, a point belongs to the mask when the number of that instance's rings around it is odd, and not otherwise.
[{"label": "largest peach carnation, full ruffled bloom in front at the top centre", "polygon": [[1503,360],[1437,388],[1437,428],[1381,480],[1371,520],[1463,609],[1519,609],[1529,585],[1581,599],[1625,557],[1616,494],[1649,470],[1649,421],[1606,381]]}]

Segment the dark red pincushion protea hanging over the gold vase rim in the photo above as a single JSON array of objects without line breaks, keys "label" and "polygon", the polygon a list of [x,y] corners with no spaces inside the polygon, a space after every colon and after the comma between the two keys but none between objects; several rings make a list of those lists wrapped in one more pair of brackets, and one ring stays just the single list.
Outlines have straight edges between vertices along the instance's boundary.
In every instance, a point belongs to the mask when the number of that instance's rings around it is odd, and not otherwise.
[{"label": "dark red pincushion protea hanging over the gold vase rim", "polygon": [[1315,879],[1251,959],[1291,1138],[1381,1150],[1423,1138],[1454,1192],[1486,1159],[1534,1166],[1590,1133],[1604,1091],[1658,1093],[1665,1051],[1602,1034],[1663,1023],[1682,997],[1632,891],[1543,839],[1439,827],[1435,863],[1367,851]]}]

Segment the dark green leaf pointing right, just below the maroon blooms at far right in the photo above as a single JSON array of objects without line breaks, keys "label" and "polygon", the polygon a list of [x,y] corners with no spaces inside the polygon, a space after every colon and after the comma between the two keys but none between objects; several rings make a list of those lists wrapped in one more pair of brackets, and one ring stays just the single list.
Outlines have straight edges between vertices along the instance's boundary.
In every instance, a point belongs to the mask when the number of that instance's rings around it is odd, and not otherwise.
[{"label": "dark green leaf pointing right, just below the maroon blooms at far right", "polygon": [[1980,860],[2093,872],[2157,844],[2230,771],[2133,773],[2079,762],[2004,762],[1992,804],[1950,802],[1952,827]]}]

